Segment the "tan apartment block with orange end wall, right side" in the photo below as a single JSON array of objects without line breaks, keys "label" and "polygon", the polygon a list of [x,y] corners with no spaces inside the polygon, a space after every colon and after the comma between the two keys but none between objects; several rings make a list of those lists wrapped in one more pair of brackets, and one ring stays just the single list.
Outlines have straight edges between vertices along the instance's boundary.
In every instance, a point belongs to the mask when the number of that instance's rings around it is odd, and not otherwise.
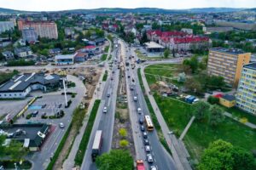
[{"label": "tan apartment block with orange end wall, right side", "polygon": [[209,50],[207,74],[224,77],[224,82],[237,86],[242,66],[249,63],[251,53],[237,48],[211,48]]}]

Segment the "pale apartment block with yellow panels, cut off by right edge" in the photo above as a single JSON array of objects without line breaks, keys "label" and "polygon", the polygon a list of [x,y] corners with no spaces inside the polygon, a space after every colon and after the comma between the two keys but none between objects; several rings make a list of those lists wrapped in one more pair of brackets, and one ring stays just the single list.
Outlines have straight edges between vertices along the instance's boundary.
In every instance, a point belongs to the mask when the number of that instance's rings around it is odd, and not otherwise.
[{"label": "pale apartment block with yellow panels, cut off by right edge", "polygon": [[237,88],[236,106],[256,116],[256,63],[243,66]]}]

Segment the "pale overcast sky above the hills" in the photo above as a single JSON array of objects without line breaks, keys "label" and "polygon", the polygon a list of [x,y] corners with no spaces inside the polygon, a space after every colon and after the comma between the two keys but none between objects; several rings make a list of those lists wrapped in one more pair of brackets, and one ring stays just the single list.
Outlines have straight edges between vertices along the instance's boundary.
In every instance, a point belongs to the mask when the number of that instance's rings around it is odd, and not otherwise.
[{"label": "pale overcast sky above the hills", "polygon": [[255,8],[256,0],[0,0],[0,8],[52,11],[75,8]]}]

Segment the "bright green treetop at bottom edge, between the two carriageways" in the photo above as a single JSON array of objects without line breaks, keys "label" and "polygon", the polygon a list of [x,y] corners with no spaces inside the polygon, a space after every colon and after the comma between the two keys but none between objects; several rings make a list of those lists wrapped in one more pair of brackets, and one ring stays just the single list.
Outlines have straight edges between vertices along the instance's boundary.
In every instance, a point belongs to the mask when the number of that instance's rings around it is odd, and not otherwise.
[{"label": "bright green treetop at bottom edge, between the two carriageways", "polygon": [[99,170],[131,170],[133,159],[128,150],[111,150],[96,158],[96,167]]}]

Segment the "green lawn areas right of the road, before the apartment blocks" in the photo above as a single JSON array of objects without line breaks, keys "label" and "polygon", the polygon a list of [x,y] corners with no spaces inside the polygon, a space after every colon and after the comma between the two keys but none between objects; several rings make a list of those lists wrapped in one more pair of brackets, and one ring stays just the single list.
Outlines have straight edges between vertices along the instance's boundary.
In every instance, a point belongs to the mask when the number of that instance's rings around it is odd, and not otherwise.
[{"label": "green lawn areas right of the road, before the apartment blocks", "polygon": [[[147,73],[172,77],[173,70],[170,69],[172,67],[175,67],[175,65],[149,65],[145,69],[148,84],[150,85],[157,80],[153,76],[147,75]],[[163,68],[166,68],[166,70]],[[154,99],[159,105],[168,127],[179,136],[192,116],[191,105],[158,94],[154,94]],[[251,119],[253,120],[253,117]],[[228,117],[215,128],[210,127],[207,122],[194,122],[184,138],[184,143],[192,158],[199,160],[202,151],[207,148],[210,142],[217,139],[224,139],[248,151],[256,150],[256,131],[240,122],[234,122]]]}]

